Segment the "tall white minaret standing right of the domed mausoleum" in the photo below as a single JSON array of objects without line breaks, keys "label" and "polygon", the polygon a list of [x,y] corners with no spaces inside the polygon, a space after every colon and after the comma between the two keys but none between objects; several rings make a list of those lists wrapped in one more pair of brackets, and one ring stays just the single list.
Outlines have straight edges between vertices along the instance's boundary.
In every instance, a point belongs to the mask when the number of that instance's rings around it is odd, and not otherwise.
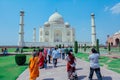
[{"label": "tall white minaret standing right of the domed mausoleum", "polygon": [[92,40],[92,46],[96,46],[96,28],[95,28],[95,17],[94,13],[91,14],[91,40]]}]

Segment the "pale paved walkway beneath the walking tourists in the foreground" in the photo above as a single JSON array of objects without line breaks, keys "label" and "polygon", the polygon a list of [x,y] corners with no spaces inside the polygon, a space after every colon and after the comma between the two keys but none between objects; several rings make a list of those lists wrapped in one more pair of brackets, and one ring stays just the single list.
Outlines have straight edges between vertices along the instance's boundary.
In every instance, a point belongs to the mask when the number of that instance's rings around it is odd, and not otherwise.
[{"label": "pale paved walkway beneath the walking tourists in the foreground", "polygon": [[[88,80],[89,75],[89,63],[77,59],[76,63],[78,80]],[[68,80],[66,72],[66,61],[59,59],[57,68],[53,68],[52,64],[48,64],[48,69],[40,69],[40,76],[37,80]],[[120,74],[101,68],[103,80],[120,80]],[[26,69],[17,80],[29,80],[29,70]],[[93,80],[97,80],[94,74]]]}]

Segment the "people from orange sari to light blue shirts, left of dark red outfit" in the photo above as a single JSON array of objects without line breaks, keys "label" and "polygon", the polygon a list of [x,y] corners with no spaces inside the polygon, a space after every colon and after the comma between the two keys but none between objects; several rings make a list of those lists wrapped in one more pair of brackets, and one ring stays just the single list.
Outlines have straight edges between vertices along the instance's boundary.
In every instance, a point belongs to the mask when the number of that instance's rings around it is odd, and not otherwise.
[{"label": "people from orange sari to light blue shirts, left of dark red outfit", "polygon": [[[39,76],[39,68],[47,69],[47,63],[53,64],[53,67],[57,67],[57,59],[65,59],[64,48],[43,48],[40,50],[33,50],[33,57],[29,61],[30,80],[36,80]],[[52,61],[52,62],[51,62]],[[37,68],[36,68],[37,67]]]}]

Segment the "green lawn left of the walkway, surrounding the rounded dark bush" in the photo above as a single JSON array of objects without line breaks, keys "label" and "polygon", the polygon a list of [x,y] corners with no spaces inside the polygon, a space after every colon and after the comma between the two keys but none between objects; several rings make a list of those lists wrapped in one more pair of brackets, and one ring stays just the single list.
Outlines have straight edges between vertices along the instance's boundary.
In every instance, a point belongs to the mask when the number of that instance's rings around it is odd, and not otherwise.
[{"label": "green lawn left of the walkway, surrounding the rounded dark bush", "polygon": [[27,61],[24,66],[18,66],[15,63],[15,56],[0,57],[0,80],[16,80],[16,78],[28,67],[30,55],[27,55]]}]

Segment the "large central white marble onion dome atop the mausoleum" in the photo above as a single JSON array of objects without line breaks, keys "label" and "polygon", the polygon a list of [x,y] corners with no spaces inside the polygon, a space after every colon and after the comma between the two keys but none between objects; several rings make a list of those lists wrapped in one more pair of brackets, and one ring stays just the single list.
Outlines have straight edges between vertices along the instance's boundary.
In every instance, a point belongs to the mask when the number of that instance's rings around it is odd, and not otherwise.
[{"label": "large central white marble onion dome atop the mausoleum", "polygon": [[58,12],[55,12],[53,13],[50,17],[49,17],[49,20],[48,20],[50,23],[53,22],[53,23],[57,23],[57,24],[63,24],[64,23],[64,19],[63,17],[58,13]]}]

